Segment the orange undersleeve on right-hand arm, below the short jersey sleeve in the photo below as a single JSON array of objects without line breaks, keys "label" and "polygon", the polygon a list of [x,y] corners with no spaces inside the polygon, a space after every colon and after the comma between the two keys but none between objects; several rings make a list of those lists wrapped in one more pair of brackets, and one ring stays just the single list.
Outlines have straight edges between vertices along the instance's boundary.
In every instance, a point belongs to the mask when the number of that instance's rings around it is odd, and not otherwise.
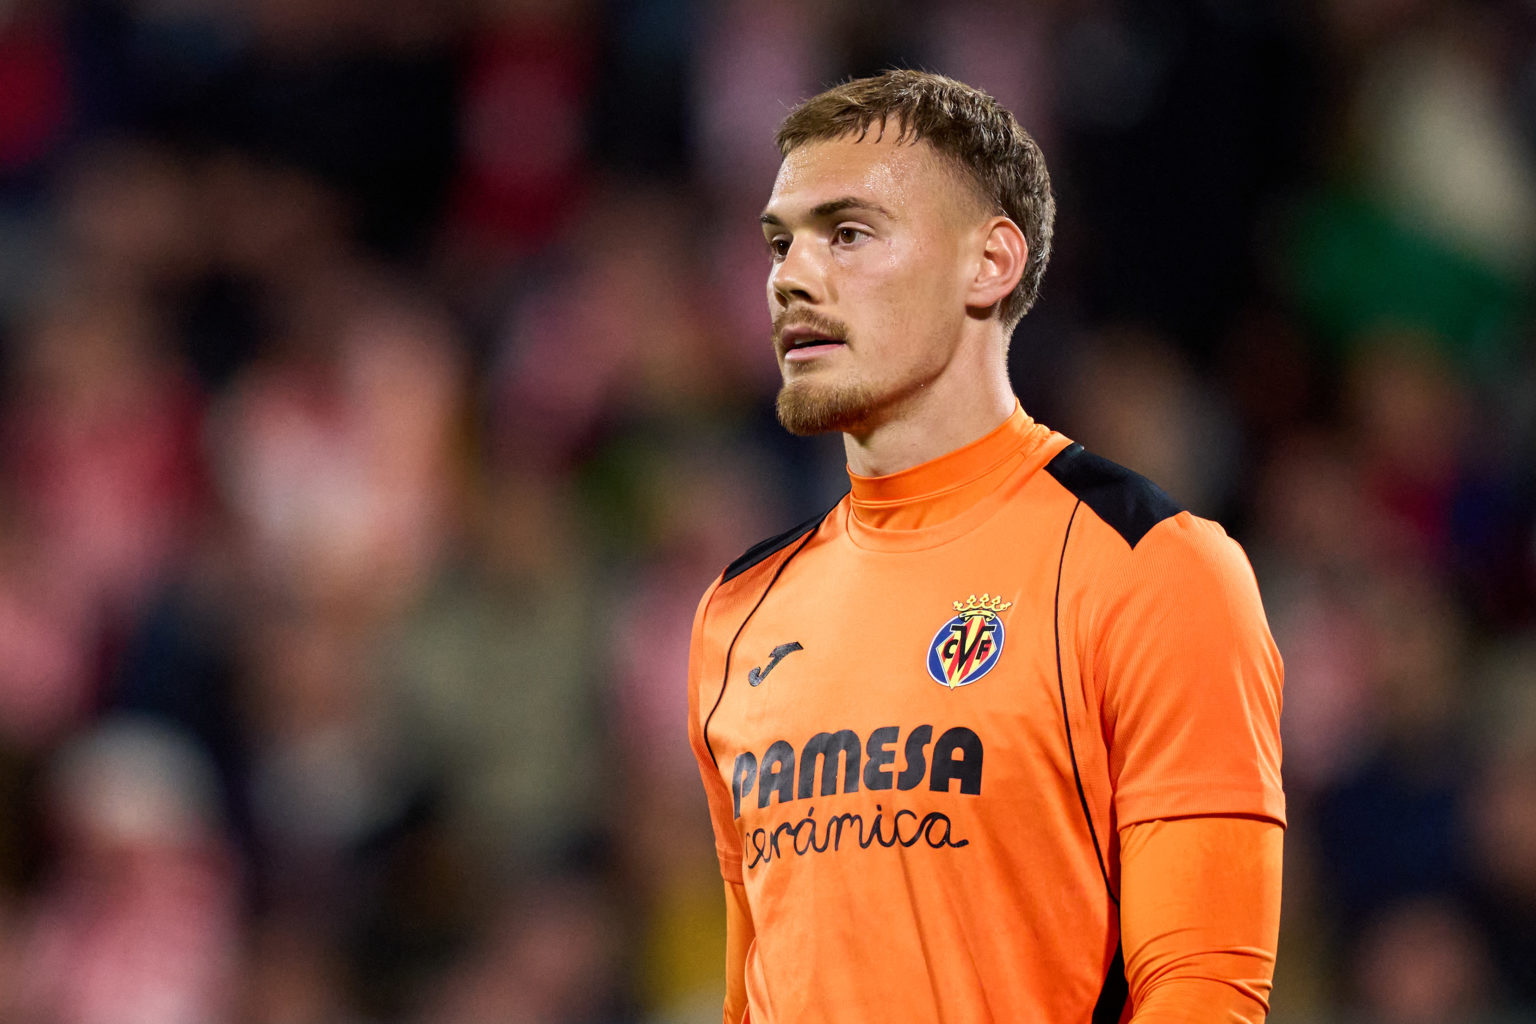
[{"label": "orange undersleeve on right-hand arm, below the short jersey sleeve", "polygon": [[1281,829],[1177,818],[1121,829],[1132,1024],[1260,1024],[1279,940]]}]

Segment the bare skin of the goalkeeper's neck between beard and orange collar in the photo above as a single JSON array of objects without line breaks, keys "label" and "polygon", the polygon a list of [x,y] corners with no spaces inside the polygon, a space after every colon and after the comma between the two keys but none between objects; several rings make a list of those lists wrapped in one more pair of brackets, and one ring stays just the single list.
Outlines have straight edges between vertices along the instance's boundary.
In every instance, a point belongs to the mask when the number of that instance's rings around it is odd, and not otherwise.
[{"label": "bare skin of the goalkeeper's neck between beard and orange collar", "polygon": [[[952,381],[954,384],[946,385]],[[843,434],[848,468],[886,476],[937,459],[983,438],[1014,411],[1005,372],[943,375],[931,393],[915,395],[899,415],[860,434]]]}]

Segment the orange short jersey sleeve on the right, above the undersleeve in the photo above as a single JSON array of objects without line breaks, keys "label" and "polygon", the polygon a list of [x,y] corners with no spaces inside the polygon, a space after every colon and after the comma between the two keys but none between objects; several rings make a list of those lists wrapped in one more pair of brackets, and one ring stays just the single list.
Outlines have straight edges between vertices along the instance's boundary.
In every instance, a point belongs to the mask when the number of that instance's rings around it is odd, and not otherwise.
[{"label": "orange short jersey sleeve on the right, above the undersleeve", "polygon": [[1189,815],[1284,824],[1284,672],[1243,550],[1181,513],[1107,582],[1095,683],[1120,827]]}]

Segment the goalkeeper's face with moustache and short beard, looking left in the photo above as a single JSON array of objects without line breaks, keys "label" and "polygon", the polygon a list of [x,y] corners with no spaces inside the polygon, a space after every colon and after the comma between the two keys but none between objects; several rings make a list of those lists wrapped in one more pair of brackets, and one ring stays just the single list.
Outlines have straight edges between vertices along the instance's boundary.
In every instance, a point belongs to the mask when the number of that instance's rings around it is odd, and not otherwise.
[{"label": "goalkeeper's face with moustache and short beard, looking left", "polygon": [[793,149],[763,210],[779,419],[797,434],[900,416],[960,339],[978,203],[928,143],[877,135]]}]

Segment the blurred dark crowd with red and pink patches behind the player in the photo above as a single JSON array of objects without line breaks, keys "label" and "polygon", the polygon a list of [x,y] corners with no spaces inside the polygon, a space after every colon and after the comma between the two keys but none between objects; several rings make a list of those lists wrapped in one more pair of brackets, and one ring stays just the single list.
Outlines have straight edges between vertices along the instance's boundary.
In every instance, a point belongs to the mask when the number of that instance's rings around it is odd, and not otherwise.
[{"label": "blurred dark crowd with red and pink patches behind the player", "polygon": [[754,221],[892,64],[1046,150],[1025,407],[1256,567],[1272,1019],[1536,1013],[1530,0],[0,0],[0,1019],[719,1019],[688,628],[846,485]]}]

